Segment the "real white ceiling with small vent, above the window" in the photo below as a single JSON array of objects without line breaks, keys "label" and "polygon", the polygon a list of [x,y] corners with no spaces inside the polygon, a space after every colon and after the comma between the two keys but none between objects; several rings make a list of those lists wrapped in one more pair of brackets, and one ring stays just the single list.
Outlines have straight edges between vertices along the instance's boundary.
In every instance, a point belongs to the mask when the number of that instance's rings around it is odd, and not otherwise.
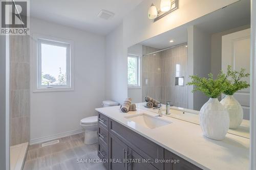
[{"label": "real white ceiling with small vent, above the window", "polygon": [[[32,17],[88,32],[106,35],[115,29],[122,18],[143,0],[32,0]],[[115,13],[104,20],[98,17],[100,10]]]}]

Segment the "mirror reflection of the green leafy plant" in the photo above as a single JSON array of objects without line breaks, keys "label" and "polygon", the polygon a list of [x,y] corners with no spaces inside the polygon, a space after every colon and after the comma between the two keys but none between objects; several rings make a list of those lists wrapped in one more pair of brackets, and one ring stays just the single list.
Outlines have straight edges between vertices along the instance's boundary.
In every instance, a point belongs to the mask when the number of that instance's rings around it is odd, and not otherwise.
[{"label": "mirror reflection of the green leafy plant", "polygon": [[231,71],[231,66],[227,68],[227,75],[231,77],[231,81],[228,81],[226,89],[223,91],[224,94],[233,95],[238,90],[247,88],[250,86],[246,81],[242,81],[242,78],[249,77],[250,74],[245,74],[245,68],[241,68],[240,71]]}]

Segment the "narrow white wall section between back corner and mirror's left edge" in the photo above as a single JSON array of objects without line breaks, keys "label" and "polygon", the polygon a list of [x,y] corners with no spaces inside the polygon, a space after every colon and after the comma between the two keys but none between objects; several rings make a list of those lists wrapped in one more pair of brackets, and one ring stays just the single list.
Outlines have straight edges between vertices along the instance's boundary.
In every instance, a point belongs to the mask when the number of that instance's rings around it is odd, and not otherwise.
[{"label": "narrow white wall section between back corner and mirror's left edge", "polygon": [[122,103],[127,98],[127,51],[123,55],[123,26],[106,36],[106,99]]}]

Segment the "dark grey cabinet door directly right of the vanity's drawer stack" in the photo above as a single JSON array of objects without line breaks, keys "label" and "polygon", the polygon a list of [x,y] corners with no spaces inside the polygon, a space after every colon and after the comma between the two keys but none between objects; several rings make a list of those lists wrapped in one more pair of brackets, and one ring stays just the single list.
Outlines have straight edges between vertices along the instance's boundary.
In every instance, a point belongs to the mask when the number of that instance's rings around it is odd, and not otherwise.
[{"label": "dark grey cabinet door directly right of the vanity's drawer stack", "polygon": [[110,133],[109,150],[111,159],[109,169],[126,170],[127,163],[124,160],[127,159],[128,147],[112,133]]}]

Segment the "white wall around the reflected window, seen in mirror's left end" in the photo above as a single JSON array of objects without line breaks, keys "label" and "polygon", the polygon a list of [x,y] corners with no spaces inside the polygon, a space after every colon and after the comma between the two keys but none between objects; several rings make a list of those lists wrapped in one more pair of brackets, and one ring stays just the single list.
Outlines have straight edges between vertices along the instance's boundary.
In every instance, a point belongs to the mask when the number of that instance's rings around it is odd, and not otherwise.
[{"label": "white wall around the reflected window, seen in mirror's left end", "polygon": [[128,87],[128,98],[132,98],[132,103],[141,103],[142,100],[142,45],[141,44],[135,44],[128,48],[128,54],[137,55],[140,57],[140,87]]}]

